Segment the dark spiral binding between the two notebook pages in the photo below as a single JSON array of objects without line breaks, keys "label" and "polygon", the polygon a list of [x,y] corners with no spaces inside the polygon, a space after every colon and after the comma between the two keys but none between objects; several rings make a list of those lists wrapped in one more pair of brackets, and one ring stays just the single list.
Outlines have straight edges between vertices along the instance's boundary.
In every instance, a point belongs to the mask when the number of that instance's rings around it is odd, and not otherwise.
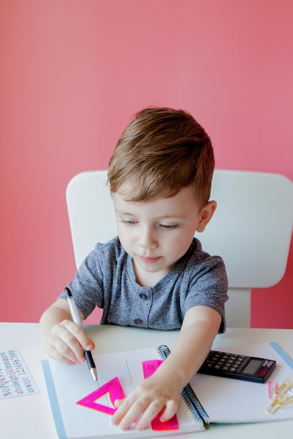
[{"label": "dark spiral binding between the two notebook pages", "polygon": [[[161,344],[161,346],[158,346],[158,353],[160,353],[163,360],[165,360],[170,354],[170,349],[168,348],[168,346]],[[184,389],[182,389],[182,397],[186,402],[186,405],[189,407],[189,410],[191,410],[191,413],[193,414],[193,417],[196,419],[196,421],[203,422],[203,425],[205,427],[209,426],[210,421],[207,413],[205,412],[203,406],[200,404],[200,401],[198,400],[196,393],[194,393],[190,384],[187,384]]]}]

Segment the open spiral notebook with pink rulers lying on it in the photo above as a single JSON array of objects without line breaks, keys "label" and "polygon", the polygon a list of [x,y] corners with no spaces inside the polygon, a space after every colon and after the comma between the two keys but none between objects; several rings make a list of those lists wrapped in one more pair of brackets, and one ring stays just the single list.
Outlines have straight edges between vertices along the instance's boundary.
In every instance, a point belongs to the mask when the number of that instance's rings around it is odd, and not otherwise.
[{"label": "open spiral notebook with pink rulers lying on it", "polygon": [[[241,346],[238,351],[235,347],[225,351],[276,360],[277,367],[270,380],[277,381],[278,384],[293,377],[292,360],[278,344],[255,344]],[[169,353],[168,347],[162,345],[154,349],[95,356],[98,389],[86,363],[67,366],[55,360],[43,360],[43,372],[58,437],[151,438],[203,431],[215,422],[293,419],[293,404],[286,410],[278,410],[273,415],[267,414],[266,408],[271,403],[267,384],[195,374],[182,390],[176,418],[169,424],[162,426],[154,422],[144,431],[136,431],[135,428],[121,431],[113,426],[111,415],[115,409],[111,403],[111,392],[115,394],[123,391],[126,396],[129,395],[146,377],[146,373],[151,373],[150,368],[154,368],[154,365],[158,367]]]}]

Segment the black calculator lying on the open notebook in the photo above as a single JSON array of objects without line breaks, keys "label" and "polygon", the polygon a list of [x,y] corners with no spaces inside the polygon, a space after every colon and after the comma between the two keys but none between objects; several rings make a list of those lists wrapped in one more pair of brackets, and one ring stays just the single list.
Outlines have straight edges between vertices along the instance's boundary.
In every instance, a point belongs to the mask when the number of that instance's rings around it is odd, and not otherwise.
[{"label": "black calculator lying on the open notebook", "polygon": [[198,373],[264,383],[276,364],[275,360],[266,358],[210,351]]}]

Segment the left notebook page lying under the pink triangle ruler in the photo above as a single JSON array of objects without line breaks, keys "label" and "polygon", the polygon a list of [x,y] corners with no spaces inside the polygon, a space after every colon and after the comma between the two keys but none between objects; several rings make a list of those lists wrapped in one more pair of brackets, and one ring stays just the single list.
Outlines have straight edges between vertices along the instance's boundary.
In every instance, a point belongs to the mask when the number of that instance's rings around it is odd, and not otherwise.
[{"label": "left notebook page lying under the pink triangle ruler", "polygon": [[[126,353],[112,353],[95,356],[98,384],[104,385],[114,377],[118,377],[128,396],[144,379],[142,361],[160,358],[156,349],[144,349]],[[50,396],[57,434],[59,438],[116,438],[123,435],[125,438],[144,438],[159,435],[174,435],[188,431],[203,429],[202,424],[196,422],[189,408],[182,399],[180,401],[177,419],[177,431],[146,431],[137,432],[134,428],[123,432],[111,424],[111,415],[92,410],[88,407],[76,405],[76,402],[97,389],[97,384],[88,371],[86,363],[67,366],[55,360],[43,360],[43,370]],[[108,396],[99,399],[99,403],[111,405]]]}]

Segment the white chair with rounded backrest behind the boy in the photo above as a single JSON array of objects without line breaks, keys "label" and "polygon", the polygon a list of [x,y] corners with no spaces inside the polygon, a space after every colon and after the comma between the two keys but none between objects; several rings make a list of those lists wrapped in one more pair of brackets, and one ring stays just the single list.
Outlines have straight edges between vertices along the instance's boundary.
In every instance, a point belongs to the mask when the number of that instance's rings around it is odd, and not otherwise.
[{"label": "white chair with rounded backrest behind the boy", "polygon": [[[107,170],[76,175],[67,207],[76,266],[95,243],[116,235]],[[217,210],[202,234],[203,249],[220,255],[229,279],[229,327],[250,327],[251,288],[268,288],[285,273],[293,224],[293,184],[272,173],[215,170],[211,200]]]}]

